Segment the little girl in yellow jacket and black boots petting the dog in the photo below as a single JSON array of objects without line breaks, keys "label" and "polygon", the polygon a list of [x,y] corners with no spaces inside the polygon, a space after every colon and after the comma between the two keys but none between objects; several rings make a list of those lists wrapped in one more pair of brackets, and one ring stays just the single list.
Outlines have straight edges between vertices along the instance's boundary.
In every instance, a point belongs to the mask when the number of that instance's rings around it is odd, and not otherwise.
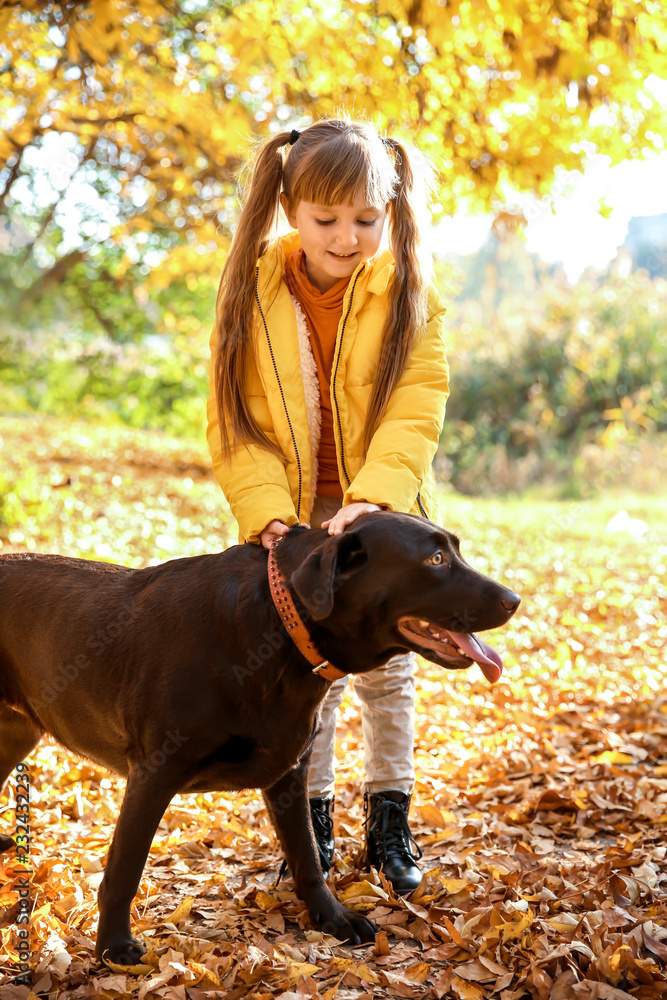
[{"label": "little girl in yellow jacket and black boots petting the dog", "polygon": [[[281,205],[294,231],[270,242]],[[381,250],[385,228],[391,250]],[[264,143],[211,337],[207,435],[242,540],[268,548],[298,521],[339,534],[377,510],[435,518],[431,462],[448,367],[444,309],[421,259],[401,143],[347,119]],[[407,822],[413,669],[412,654],[396,656],[354,681],[368,861],[399,893],[421,880]],[[325,874],[334,848],[335,712],[346,681],[324,701],[309,771]]]}]

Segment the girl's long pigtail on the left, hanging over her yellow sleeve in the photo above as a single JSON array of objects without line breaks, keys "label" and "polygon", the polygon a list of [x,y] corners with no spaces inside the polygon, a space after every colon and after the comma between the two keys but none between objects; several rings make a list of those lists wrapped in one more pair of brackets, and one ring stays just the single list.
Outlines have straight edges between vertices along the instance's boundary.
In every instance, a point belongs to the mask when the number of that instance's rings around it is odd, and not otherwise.
[{"label": "girl's long pigtail on the left, hanging over her yellow sleeve", "polygon": [[259,153],[218,289],[215,388],[222,453],[228,459],[233,446],[240,442],[257,444],[279,454],[250,411],[245,373],[248,352],[253,349],[251,331],[257,260],[266,250],[278,219],[283,179],[281,147],[289,140],[289,132],[280,132],[269,139]]}]

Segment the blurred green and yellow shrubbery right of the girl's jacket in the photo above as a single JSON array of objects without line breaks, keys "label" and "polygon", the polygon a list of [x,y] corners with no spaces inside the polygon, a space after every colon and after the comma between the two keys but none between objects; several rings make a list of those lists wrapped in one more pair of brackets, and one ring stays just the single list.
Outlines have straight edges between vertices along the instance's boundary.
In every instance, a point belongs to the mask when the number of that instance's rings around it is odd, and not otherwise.
[{"label": "blurred green and yellow shrubbery right of the girl's jacket", "polygon": [[491,330],[463,316],[441,438],[454,484],[489,488],[501,453],[528,479],[561,476],[586,445],[665,430],[666,291],[639,272],[547,287],[529,308],[507,300]]}]

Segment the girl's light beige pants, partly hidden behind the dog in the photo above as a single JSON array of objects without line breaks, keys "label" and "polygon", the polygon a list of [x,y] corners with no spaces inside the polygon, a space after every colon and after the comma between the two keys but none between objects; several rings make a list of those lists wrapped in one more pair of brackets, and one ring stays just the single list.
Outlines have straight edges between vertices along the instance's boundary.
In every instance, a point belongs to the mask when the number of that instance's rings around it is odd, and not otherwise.
[{"label": "girl's light beige pants, partly hidden behind the dog", "polygon": [[[330,497],[315,501],[311,524],[320,527],[332,517],[340,502]],[[394,656],[383,667],[357,674],[354,690],[361,701],[364,737],[364,792],[390,790],[409,793],[415,781],[414,654]],[[348,678],[334,681],[322,704],[322,727],[310,761],[308,787],[311,798],[333,795],[336,753],[336,709]]]}]

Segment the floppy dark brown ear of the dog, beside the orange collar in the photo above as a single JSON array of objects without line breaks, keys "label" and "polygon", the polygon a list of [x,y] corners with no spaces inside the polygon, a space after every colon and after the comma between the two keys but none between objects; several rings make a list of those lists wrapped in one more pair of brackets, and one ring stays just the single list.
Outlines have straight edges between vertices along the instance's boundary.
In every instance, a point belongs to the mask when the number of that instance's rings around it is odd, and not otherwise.
[{"label": "floppy dark brown ear of the dog, beside the orange collar", "polygon": [[311,618],[331,614],[336,590],[368,559],[358,532],[344,531],[326,539],[290,578],[297,596]]}]

